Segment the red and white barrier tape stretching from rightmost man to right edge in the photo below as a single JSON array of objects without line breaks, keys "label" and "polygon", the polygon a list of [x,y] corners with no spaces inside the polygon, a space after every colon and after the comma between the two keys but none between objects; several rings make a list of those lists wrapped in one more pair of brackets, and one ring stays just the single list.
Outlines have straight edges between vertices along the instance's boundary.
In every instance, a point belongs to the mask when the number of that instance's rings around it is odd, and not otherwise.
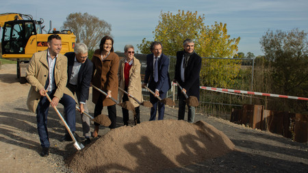
[{"label": "red and white barrier tape stretching from rightmost man to right edge", "polygon": [[279,97],[279,98],[291,98],[291,99],[296,99],[296,100],[308,101],[308,98],[298,97],[298,96],[285,96],[285,95],[279,95],[279,94],[268,94],[268,93],[262,93],[262,92],[248,92],[248,91],[243,91],[243,90],[232,90],[232,89],[225,89],[225,88],[212,88],[212,87],[205,87],[205,86],[200,86],[200,88],[204,89],[204,90],[211,90],[211,91],[235,92],[235,93],[252,94],[252,95],[258,95],[258,96],[272,96],[272,97]]}]

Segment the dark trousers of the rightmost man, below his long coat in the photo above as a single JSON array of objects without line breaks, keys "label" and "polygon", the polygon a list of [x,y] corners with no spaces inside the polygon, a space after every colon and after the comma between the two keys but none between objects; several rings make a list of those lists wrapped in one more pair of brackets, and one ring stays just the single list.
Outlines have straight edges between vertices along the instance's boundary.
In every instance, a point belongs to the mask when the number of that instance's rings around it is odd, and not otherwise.
[{"label": "dark trousers of the rightmost man, below his long coat", "polygon": [[[179,94],[179,113],[178,113],[178,120],[184,120],[185,116],[185,96],[183,94]],[[194,122],[194,114],[196,108],[192,106],[188,106],[188,122]]]}]

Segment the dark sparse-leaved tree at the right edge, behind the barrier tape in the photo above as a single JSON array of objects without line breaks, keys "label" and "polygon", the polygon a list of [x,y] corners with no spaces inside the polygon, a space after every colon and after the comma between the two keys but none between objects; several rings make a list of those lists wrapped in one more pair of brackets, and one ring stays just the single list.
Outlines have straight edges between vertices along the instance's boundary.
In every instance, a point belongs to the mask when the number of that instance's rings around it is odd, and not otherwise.
[{"label": "dark sparse-leaved tree at the right edge, behind the barrier tape", "polygon": [[[307,32],[298,29],[275,32],[268,30],[262,36],[260,43],[266,59],[271,63],[272,92],[307,97]],[[277,107],[285,111],[308,110],[306,101],[284,99],[276,104]]]}]

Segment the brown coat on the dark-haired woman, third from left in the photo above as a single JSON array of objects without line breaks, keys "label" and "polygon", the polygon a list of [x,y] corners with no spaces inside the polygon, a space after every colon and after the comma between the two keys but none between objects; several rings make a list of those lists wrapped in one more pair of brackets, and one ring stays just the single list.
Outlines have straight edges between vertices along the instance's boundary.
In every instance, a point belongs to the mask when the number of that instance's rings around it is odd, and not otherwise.
[{"label": "brown coat on the dark-haired woman, third from left", "polygon": [[[108,57],[103,61],[101,60],[101,51],[97,49],[94,51],[92,57],[93,72],[92,72],[92,85],[96,86],[107,93],[107,90],[112,91],[112,98],[118,97],[118,64],[119,57],[114,52],[110,52]],[[94,104],[99,100],[101,92],[92,89],[92,102]],[[103,106],[115,105],[112,99],[105,99],[103,95]]]}]

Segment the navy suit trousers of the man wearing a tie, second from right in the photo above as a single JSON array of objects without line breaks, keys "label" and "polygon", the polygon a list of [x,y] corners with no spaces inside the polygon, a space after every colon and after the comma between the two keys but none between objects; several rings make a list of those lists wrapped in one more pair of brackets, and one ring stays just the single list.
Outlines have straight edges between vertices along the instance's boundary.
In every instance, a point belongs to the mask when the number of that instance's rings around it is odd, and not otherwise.
[{"label": "navy suit trousers of the man wearing a tie, second from right", "polygon": [[[166,93],[159,92],[160,98],[166,98]],[[164,103],[160,102],[153,94],[150,95],[150,102],[152,103],[153,107],[151,107],[151,117],[150,121],[153,121],[156,119],[156,110],[158,106],[158,120],[164,120],[164,114],[165,114],[165,105]]]}]

